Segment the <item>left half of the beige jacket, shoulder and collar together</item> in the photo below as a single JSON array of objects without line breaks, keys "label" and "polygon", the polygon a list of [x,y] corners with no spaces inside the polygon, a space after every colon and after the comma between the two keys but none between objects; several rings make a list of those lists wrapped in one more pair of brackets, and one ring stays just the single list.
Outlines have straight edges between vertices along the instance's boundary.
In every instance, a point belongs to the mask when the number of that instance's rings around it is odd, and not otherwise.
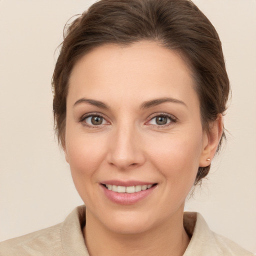
[{"label": "left half of the beige jacket, shoulder and collar together", "polygon": [[78,206],[62,223],[0,242],[0,256],[88,256],[85,219],[85,206]]}]

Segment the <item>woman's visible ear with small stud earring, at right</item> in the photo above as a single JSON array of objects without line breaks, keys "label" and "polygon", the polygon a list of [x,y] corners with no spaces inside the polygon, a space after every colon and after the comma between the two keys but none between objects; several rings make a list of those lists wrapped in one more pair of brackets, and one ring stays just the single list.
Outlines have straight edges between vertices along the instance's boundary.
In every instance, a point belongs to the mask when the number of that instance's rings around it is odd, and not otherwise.
[{"label": "woman's visible ear with small stud earring, at right", "polygon": [[222,117],[222,114],[218,114],[217,119],[212,123],[210,123],[209,131],[204,131],[203,148],[202,148],[202,152],[199,160],[200,167],[205,167],[210,164],[217,150],[217,146],[222,133],[223,133],[223,117]]}]

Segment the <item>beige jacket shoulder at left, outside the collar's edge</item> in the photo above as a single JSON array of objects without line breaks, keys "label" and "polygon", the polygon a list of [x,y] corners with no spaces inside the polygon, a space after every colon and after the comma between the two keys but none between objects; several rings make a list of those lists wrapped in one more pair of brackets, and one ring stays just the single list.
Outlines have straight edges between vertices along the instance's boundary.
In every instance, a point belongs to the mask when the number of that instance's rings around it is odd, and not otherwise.
[{"label": "beige jacket shoulder at left, outside the collar's edge", "polygon": [[57,224],[0,242],[0,255],[62,255],[60,231],[61,224]]}]

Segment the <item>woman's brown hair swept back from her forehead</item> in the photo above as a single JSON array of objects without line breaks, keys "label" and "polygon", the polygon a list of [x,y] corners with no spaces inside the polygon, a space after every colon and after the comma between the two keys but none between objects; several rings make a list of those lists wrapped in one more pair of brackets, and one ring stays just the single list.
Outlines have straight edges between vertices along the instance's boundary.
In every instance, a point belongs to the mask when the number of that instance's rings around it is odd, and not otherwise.
[{"label": "woman's brown hair swept back from her forehead", "polygon": [[[58,141],[64,145],[68,79],[74,63],[106,43],[141,40],[177,50],[188,61],[200,100],[202,126],[226,109],[229,81],[218,34],[190,0],[100,0],[65,27],[52,76],[53,114]],[[222,134],[218,145],[225,138]],[[195,184],[209,171],[199,167]]]}]

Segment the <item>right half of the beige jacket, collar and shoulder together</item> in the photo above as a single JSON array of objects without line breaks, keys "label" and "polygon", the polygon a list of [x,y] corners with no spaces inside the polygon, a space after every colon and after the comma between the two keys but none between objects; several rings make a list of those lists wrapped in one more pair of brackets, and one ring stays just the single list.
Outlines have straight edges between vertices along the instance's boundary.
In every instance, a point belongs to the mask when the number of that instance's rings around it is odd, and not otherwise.
[{"label": "right half of the beige jacket, collar and shoulder together", "polygon": [[183,256],[253,256],[235,242],[211,231],[198,212],[184,212],[183,224],[191,236]]}]

